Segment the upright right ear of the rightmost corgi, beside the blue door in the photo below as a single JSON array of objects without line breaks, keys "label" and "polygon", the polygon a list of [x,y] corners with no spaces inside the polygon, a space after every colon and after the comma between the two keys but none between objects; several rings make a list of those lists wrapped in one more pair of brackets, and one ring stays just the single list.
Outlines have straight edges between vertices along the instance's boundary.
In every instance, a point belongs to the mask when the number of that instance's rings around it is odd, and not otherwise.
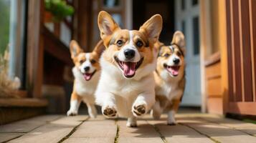
[{"label": "upright right ear of the rightmost corgi, beside the blue door", "polygon": [[174,33],[174,37],[171,41],[171,44],[176,44],[179,46],[179,48],[181,48],[181,51],[183,52],[183,54],[186,54],[186,41],[185,41],[185,36],[181,31],[176,31]]}]

